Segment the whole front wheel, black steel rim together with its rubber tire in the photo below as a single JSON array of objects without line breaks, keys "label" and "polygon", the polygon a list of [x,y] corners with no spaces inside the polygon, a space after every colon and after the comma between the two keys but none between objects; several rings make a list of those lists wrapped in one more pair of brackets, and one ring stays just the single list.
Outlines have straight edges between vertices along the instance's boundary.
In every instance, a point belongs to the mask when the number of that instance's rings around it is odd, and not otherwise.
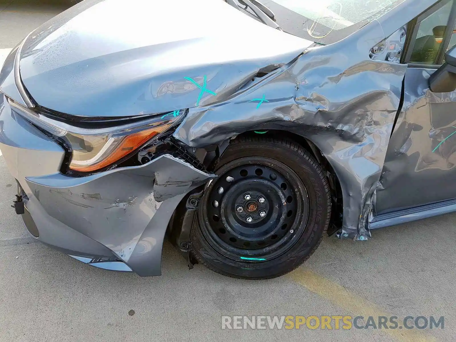
[{"label": "whole front wheel, black steel rim together with its rubber tire", "polygon": [[331,198],[306,150],[288,140],[238,139],[216,174],[192,231],[199,262],[223,275],[267,279],[313,253],[329,224]]}]

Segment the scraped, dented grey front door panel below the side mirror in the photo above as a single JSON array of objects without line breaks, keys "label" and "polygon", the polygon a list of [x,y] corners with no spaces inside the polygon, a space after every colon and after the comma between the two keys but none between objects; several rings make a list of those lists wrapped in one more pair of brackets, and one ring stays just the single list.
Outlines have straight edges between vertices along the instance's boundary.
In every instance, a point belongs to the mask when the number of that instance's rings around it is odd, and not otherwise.
[{"label": "scraped, dented grey front door panel below the side mirror", "polygon": [[434,72],[407,70],[404,104],[377,190],[377,214],[456,198],[456,91],[431,92]]}]

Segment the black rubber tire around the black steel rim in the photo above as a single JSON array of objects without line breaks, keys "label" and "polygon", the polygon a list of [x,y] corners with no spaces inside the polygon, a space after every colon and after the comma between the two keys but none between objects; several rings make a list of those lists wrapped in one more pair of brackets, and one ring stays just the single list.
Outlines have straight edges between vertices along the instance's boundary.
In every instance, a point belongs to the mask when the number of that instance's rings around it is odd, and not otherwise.
[{"label": "black rubber tire around the black steel rim", "polygon": [[192,229],[192,256],[221,275],[241,279],[270,279],[284,275],[301,265],[316,250],[326,232],[331,217],[331,195],[325,172],[316,159],[301,145],[286,139],[243,137],[233,140],[215,166],[221,166],[243,157],[268,156],[285,164],[301,179],[306,187],[309,214],[301,236],[284,254],[263,262],[243,262],[229,259],[214,249],[202,229],[203,195],[198,218]]}]

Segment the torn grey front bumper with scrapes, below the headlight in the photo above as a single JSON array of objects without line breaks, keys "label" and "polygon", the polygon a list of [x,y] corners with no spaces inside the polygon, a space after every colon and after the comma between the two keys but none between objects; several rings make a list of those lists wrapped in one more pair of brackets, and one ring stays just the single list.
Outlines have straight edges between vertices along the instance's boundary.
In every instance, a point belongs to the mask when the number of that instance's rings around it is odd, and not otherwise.
[{"label": "torn grey front bumper with scrapes, below the headlight", "polygon": [[214,177],[171,155],[91,176],[63,175],[65,151],[11,109],[3,95],[0,150],[23,188],[24,221],[36,225],[36,239],[83,262],[120,260],[128,265],[121,270],[141,276],[161,274],[172,213],[188,192]]}]

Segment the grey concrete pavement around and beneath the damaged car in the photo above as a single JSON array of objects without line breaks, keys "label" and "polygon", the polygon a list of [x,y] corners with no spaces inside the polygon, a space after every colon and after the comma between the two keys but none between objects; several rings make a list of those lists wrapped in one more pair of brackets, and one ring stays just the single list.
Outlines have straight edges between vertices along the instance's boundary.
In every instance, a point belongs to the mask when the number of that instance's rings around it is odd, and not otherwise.
[{"label": "grey concrete pavement around and beneath the damaged car", "polygon": [[[71,5],[57,2],[0,4],[0,58]],[[455,340],[456,214],[375,231],[367,242],[325,238],[299,269],[264,281],[188,270],[167,243],[163,275],[140,278],[37,243],[10,207],[15,193],[0,155],[0,341]],[[222,330],[221,316],[233,315],[445,316],[445,329]]]}]

